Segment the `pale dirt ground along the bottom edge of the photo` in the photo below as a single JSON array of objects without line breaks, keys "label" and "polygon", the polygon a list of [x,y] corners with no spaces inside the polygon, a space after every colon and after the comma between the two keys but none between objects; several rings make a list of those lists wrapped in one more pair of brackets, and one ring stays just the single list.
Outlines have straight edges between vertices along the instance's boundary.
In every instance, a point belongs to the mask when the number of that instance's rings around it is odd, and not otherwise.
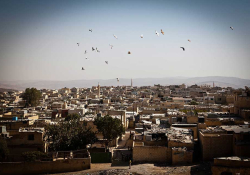
[{"label": "pale dirt ground along the bottom edge of the photo", "polygon": [[137,164],[128,166],[111,166],[111,163],[91,164],[91,169],[60,173],[59,175],[211,175],[210,163],[190,166],[169,166],[163,164]]}]

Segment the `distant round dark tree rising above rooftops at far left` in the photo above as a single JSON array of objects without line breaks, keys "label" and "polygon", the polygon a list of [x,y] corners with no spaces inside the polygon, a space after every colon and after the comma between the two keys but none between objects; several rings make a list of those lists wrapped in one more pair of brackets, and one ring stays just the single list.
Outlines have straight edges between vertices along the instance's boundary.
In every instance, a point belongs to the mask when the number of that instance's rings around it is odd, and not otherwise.
[{"label": "distant round dark tree rising above rooftops at far left", "polygon": [[26,101],[25,106],[35,107],[39,105],[39,100],[42,97],[42,94],[36,88],[26,88],[22,98]]}]

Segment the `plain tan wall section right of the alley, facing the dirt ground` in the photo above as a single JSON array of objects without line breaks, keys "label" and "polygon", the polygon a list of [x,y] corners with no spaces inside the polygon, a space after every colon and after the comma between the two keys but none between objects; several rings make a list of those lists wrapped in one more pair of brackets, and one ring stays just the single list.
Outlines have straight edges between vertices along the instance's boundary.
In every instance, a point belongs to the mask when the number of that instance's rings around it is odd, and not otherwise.
[{"label": "plain tan wall section right of the alley, facing the dirt ground", "polygon": [[133,163],[171,163],[172,150],[163,146],[136,146],[133,148]]}]

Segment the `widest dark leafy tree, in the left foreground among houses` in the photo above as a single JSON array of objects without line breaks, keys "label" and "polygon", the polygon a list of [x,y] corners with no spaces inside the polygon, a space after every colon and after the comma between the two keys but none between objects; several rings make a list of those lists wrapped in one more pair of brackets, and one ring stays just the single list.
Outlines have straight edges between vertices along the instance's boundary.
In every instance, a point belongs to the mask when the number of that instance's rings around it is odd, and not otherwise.
[{"label": "widest dark leafy tree, in the left foreground among houses", "polygon": [[61,121],[56,125],[45,126],[44,139],[52,151],[68,151],[86,148],[96,141],[96,135],[79,118]]}]

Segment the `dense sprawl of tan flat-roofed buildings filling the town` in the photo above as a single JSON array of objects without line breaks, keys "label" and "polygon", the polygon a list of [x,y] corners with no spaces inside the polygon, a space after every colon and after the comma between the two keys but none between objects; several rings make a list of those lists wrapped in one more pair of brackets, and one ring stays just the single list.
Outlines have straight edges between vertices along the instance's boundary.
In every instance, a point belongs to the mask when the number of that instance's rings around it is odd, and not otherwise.
[{"label": "dense sprawl of tan flat-roofed buildings filling the town", "polygon": [[[23,91],[0,93],[0,133],[10,157],[26,150],[49,153],[44,127],[58,125],[71,114],[95,131],[98,140],[89,149],[103,149],[103,136],[94,121],[120,119],[126,132],[109,143],[116,160],[120,147],[130,155],[122,160],[190,164],[221,157],[250,157],[249,88],[208,85],[93,86],[92,88],[41,89],[38,106],[25,107]],[[226,147],[226,148],[225,148]],[[180,156],[182,155],[182,156]],[[21,156],[20,156],[21,157]],[[13,158],[13,157],[12,157]],[[243,160],[242,158],[242,160]],[[95,158],[93,158],[94,160]],[[231,158],[233,160],[235,158]],[[14,160],[14,159],[13,159]],[[244,158],[248,160],[248,158]]]}]

